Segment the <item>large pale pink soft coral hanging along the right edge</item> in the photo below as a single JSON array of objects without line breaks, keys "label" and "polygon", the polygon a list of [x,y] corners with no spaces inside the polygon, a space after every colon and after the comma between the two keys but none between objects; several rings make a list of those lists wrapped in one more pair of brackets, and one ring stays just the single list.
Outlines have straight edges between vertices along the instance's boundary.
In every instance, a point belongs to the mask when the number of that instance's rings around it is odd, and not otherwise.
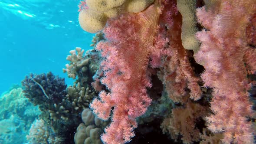
[{"label": "large pale pink soft coral hanging along the right edge", "polygon": [[254,142],[246,119],[252,105],[245,63],[255,72],[255,50],[246,42],[246,26],[255,11],[255,0],[216,0],[197,9],[198,21],[206,29],[197,33],[202,44],[195,58],[205,67],[204,86],[213,88],[208,128],[223,132],[225,144]]}]

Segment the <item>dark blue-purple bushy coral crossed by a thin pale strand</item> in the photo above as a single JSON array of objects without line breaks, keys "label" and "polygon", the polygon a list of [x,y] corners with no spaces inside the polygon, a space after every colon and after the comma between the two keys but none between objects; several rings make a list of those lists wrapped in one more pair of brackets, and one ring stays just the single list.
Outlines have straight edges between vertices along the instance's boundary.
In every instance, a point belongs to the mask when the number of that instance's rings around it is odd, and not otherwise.
[{"label": "dark blue-purple bushy coral crossed by a thin pale strand", "polygon": [[[73,109],[72,101],[68,101],[67,99],[72,97],[70,100],[75,100],[75,96],[79,95],[72,91],[68,92],[64,79],[54,76],[51,72],[41,75],[30,74],[26,76],[22,84],[24,95],[34,105],[38,105],[40,111],[42,111],[39,118],[44,121],[47,127],[51,127],[55,131],[57,137],[64,142],[70,143],[72,140],[68,136],[72,131],[75,131],[74,125],[75,123],[79,123],[79,115]],[[33,141],[41,140],[35,139]],[[43,141],[44,143],[46,142],[43,139],[42,143]]]}]

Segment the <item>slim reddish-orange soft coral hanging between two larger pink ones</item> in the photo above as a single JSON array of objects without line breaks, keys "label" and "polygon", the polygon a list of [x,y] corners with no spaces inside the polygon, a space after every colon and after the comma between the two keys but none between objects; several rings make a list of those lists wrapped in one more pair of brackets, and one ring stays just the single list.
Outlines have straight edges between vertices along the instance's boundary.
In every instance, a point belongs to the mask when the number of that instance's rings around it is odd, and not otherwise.
[{"label": "slim reddish-orange soft coral hanging between two larger pink ones", "polygon": [[[172,5],[172,9],[168,8]],[[186,101],[186,95],[191,99],[201,98],[201,90],[198,85],[199,79],[195,76],[193,68],[190,65],[190,52],[183,48],[181,42],[181,15],[177,12],[174,2],[166,1],[163,13],[161,15],[162,23],[166,23],[167,32],[165,35],[170,39],[170,54],[164,60],[164,84],[170,98],[174,102]],[[186,92],[190,89],[190,93]]]}]

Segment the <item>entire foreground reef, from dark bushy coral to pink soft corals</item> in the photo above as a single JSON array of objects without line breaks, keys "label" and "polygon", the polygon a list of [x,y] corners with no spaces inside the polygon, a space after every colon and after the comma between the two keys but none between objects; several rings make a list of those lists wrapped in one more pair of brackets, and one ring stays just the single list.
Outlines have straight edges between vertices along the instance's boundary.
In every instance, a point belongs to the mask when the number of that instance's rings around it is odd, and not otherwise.
[{"label": "entire foreground reef, from dark bushy coral to pink soft corals", "polygon": [[96,35],[67,57],[74,85],[23,80],[28,141],[255,143],[256,0],[83,0],[79,23]]}]

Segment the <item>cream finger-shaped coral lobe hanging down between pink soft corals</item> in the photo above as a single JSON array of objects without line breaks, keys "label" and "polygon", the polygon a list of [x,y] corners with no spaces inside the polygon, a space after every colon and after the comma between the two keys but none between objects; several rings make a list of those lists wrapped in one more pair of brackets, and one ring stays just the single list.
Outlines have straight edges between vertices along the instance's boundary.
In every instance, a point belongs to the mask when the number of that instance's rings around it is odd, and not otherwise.
[{"label": "cream finger-shaped coral lobe hanging down between pink soft corals", "polygon": [[185,49],[193,49],[197,52],[199,42],[195,37],[197,33],[196,0],[177,0],[177,8],[182,15],[182,45]]}]

